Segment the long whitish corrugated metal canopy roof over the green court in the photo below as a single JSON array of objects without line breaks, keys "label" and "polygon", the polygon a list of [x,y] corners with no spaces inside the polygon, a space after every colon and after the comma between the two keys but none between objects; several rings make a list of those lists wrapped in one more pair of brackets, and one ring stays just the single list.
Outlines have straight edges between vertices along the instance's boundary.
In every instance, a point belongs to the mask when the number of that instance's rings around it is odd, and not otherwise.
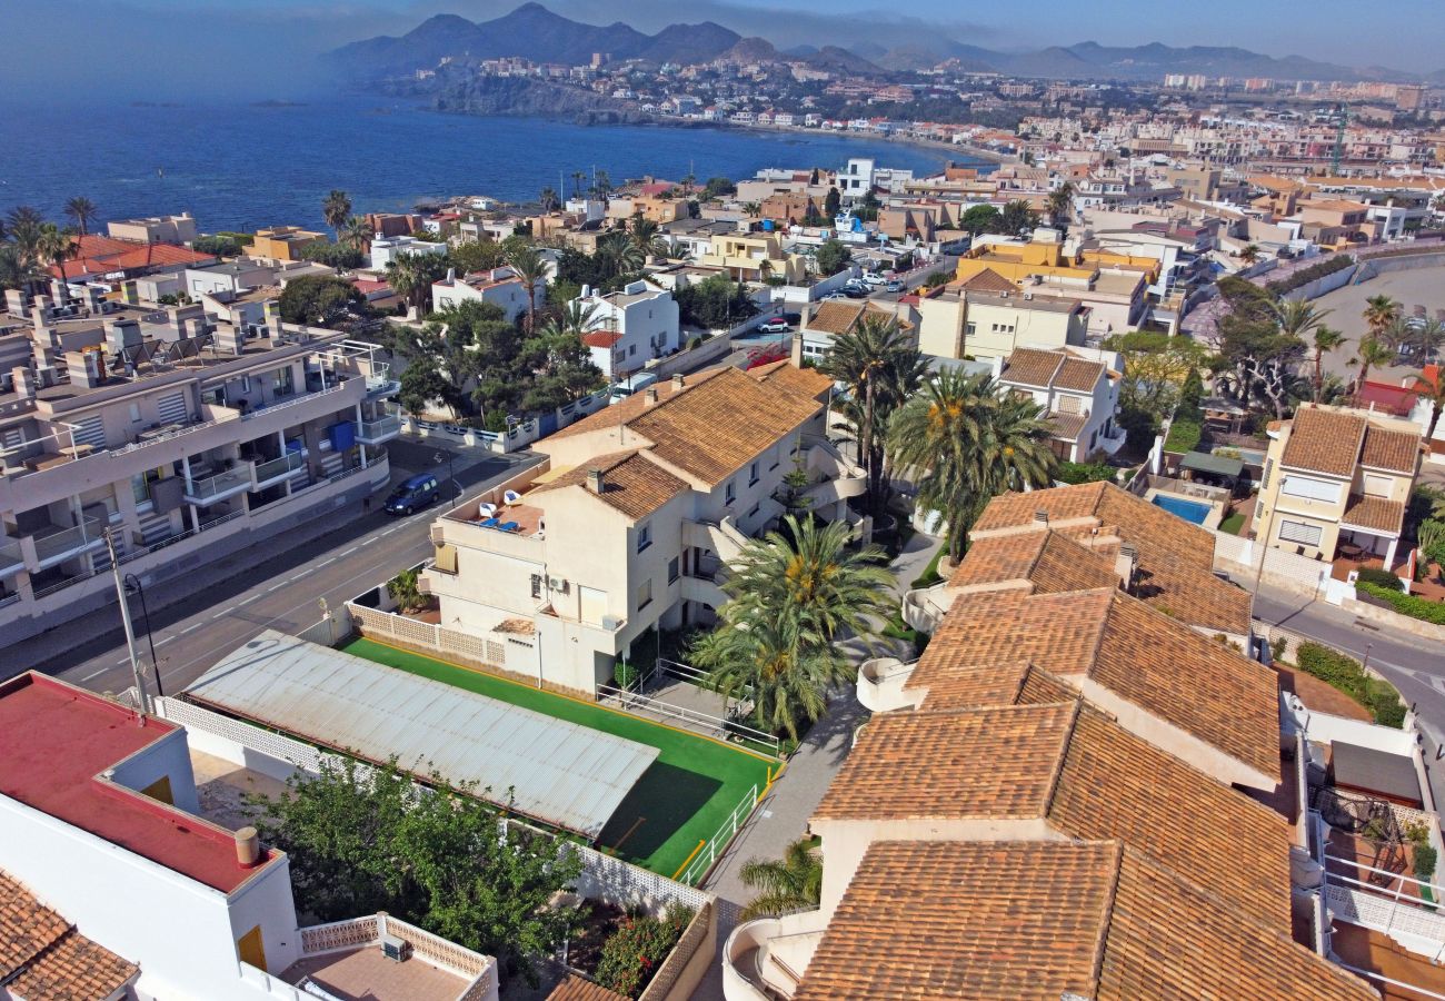
[{"label": "long whitish corrugated metal canopy roof over the green court", "polygon": [[657,748],[267,629],[186,696],[597,838]]}]

